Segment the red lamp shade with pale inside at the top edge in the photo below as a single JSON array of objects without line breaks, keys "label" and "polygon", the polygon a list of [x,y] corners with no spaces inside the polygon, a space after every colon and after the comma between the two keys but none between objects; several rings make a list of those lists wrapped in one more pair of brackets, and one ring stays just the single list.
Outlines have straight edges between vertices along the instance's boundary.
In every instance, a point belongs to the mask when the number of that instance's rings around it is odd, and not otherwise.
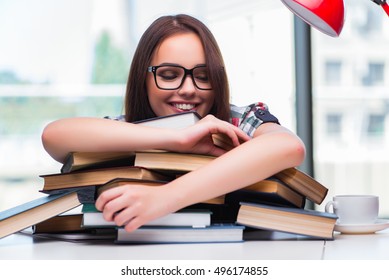
[{"label": "red lamp shade with pale inside at the top edge", "polygon": [[295,15],[332,37],[338,37],[344,23],[343,0],[281,0]]}]

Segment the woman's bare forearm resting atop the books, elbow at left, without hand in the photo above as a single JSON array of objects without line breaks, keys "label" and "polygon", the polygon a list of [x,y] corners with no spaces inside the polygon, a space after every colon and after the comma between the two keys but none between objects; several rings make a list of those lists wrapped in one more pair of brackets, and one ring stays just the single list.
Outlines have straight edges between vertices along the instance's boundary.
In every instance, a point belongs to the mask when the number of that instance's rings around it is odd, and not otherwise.
[{"label": "woman's bare forearm resting atop the books, elbow at left, without hand", "polygon": [[44,148],[59,162],[74,151],[167,149],[174,139],[166,129],[99,118],[61,119],[47,125],[42,133]]}]

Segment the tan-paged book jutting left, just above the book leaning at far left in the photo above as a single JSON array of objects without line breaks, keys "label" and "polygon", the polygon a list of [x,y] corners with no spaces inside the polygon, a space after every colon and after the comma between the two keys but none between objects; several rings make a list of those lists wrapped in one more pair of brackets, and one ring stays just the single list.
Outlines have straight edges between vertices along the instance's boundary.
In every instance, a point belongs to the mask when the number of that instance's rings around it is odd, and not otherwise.
[{"label": "tan-paged book jutting left, just above the book leaning at far left", "polygon": [[40,175],[43,178],[42,191],[96,186],[105,184],[116,178],[128,178],[150,181],[170,181],[171,177],[138,166],[121,166],[92,169],[70,173]]}]

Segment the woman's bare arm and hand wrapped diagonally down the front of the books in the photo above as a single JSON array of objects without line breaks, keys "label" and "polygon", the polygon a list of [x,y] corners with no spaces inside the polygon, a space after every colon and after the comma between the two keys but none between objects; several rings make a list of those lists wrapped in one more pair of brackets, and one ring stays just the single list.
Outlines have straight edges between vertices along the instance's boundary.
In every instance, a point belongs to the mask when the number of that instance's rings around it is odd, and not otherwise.
[{"label": "woman's bare arm and hand wrapped diagonally down the front of the books", "polygon": [[[261,125],[255,137],[160,188],[116,188],[96,201],[107,220],[132,231],[149,220],[243,188],[302,163],[305,147],[287,129]],[[118,214],[118,212],[120,212]]]}]

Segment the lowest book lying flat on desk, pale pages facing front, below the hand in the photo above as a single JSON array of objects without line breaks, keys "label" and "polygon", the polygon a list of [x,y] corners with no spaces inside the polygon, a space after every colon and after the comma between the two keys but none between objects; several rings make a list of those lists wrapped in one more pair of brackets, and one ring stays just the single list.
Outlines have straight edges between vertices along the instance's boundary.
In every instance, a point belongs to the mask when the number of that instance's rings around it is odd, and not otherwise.
[{"label": "lowest book lying flat on desk, pale pages facing front, below the hand", "polygon": [[242,242],[244,226],[213,224],[205,228],[140,227],[132,232],[117,229],[117,243],[219,243]]}]

